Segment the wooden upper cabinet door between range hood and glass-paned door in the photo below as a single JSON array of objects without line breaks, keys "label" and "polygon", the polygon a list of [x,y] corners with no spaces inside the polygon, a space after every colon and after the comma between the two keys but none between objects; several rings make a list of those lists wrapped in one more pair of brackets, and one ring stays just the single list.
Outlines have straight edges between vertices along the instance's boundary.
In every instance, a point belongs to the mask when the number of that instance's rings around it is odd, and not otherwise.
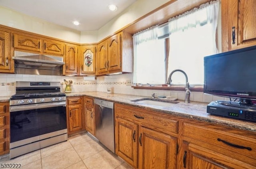
[{"label": "wooden upper cabinet door between range hood and glass-paned door", "polygon": [[77,56],[78,50],[76,45],[66,45],[64,74],[77,74]]}]

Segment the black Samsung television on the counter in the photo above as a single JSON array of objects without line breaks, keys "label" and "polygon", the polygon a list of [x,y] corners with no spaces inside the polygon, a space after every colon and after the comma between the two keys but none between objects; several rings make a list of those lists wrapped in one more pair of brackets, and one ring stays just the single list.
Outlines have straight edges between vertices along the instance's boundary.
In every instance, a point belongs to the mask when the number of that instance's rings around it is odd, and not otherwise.
[{"label": "black Samsung television on the counter", "polygon": [[256,46],[204,57],[204,93],[256,99]]}]

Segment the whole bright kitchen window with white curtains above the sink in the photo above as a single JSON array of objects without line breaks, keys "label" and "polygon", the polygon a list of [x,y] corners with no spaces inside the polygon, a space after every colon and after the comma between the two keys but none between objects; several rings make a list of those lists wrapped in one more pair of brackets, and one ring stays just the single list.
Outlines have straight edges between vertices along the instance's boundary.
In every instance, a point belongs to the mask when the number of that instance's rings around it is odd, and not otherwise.
[{"label": "whole bright kitchen window with white curtains above the sink", "polygon": [[[218,6],[218,1],[203,4],[168,24],[134,34],[133,82],[165,84],[170,72],[181,69],[190,84],[204,84],[203,58],[217,53]],[[184,75],[174,73],[172,83],[185,84]]]}]

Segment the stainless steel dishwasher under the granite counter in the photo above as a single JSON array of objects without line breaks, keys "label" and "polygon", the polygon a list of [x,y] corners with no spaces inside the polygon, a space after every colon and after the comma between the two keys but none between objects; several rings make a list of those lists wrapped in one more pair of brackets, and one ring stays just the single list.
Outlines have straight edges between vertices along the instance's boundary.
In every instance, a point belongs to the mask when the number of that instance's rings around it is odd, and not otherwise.
[{"label": "stainless steel dishwasher under the granite counter", "polygon": [[96,138],[112,152],[115,152],[114,103],[94,99]]}]

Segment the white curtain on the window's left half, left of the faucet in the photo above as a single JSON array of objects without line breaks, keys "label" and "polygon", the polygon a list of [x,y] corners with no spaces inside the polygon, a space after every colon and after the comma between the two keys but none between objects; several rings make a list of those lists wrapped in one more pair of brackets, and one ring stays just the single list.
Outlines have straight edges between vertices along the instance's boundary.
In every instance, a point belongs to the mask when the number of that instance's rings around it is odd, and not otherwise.
[{"label": "white curtain on the window's left half, left of the faucet", "polygon": [[152,26],[133,36],[133,83],[164,82],[164,40],[158,40],[158,26]]}]

